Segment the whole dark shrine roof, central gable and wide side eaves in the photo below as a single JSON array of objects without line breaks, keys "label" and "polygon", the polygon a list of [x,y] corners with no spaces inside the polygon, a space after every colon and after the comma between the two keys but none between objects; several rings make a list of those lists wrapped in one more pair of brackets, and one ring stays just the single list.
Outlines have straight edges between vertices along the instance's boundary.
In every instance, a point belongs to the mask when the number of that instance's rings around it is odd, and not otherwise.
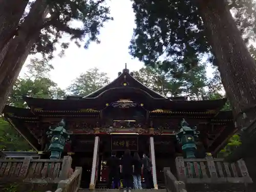
[{"label": "whole dark shrine roof, central gable and wide side eaves", "polygon": [[184,98],[166,98],[147,88],[124,69],[123,72],[105,87],[85,96],[68,97],[67,99],[42,99],[23,97],[32,111],[79,111],[92,109],[100,111],[109,103],[120,99],[129,99],[143,104],[147,111],[158,109],[170,111],[218,111],[222,109],[226,99],[188,101]]}]

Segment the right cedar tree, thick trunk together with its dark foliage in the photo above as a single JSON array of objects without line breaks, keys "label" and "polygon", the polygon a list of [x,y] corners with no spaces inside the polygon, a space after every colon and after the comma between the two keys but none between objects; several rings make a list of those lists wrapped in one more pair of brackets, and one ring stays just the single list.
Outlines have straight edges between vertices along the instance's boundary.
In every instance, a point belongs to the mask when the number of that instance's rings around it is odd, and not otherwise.
[{"label": "right cedar tree, thick trunk together with its dark foliage", "polygon": [[[251,1],[233,0],[230,5],[226,0],[133,2],[137,27],[131,54],[146,65],[154,65],[164,55],[177,73],[174,63],[182,63],[189,70],[205,53],[211,53],[237,126],[248,125],[256,112],[256,66],[241,35],[249,36],[248,31],[255,29]],[[230,8],[237,8],[236,20]],[[242,118],[244,112],[246,119]]]}]

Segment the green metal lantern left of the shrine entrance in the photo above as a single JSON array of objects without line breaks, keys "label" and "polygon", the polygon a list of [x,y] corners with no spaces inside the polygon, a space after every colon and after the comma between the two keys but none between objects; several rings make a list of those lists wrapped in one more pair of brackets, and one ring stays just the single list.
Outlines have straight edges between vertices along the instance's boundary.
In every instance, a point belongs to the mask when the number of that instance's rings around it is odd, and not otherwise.
[{"label": "green metal lantern left of the shrine entrance", "polygon": [[48,137],[51,137],[50,146],[48,148],[51,152],[50,159],[59,159],[61,153],[64,151],[66,142],[70,139],[65,126],[66,123],[62,119],[55,129],[51,129],[51,127],[49,127],[50,132],[47,132],[47,135]]}]

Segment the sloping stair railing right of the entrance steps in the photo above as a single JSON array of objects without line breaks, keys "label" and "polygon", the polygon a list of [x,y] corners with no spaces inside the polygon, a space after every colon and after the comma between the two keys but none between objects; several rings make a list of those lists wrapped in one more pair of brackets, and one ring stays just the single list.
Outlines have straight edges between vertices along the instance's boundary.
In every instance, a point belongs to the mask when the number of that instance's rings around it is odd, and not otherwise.
[{"label": "sloping stair railing right of the entrance steps", "polygon": [[178,181],[170,172],[170,167],[164,167],[164,184],[167,192],[186,192],[185,183]]}]

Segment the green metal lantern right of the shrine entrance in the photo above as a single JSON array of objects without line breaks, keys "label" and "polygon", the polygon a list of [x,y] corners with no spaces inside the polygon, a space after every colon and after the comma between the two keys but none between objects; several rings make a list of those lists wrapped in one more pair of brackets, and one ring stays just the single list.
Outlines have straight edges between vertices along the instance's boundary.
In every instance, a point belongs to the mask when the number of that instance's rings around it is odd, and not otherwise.
[{"label": "green metal lantern right of the shrine entrance", "polygon": [[181,129],[176,132],[176,139],[181,143],[182,151],[185,152],[186,158],[195,158],[197,145],[195,138],[198,137],[197,127],[189,127],[185,119],[181,121]]}]

